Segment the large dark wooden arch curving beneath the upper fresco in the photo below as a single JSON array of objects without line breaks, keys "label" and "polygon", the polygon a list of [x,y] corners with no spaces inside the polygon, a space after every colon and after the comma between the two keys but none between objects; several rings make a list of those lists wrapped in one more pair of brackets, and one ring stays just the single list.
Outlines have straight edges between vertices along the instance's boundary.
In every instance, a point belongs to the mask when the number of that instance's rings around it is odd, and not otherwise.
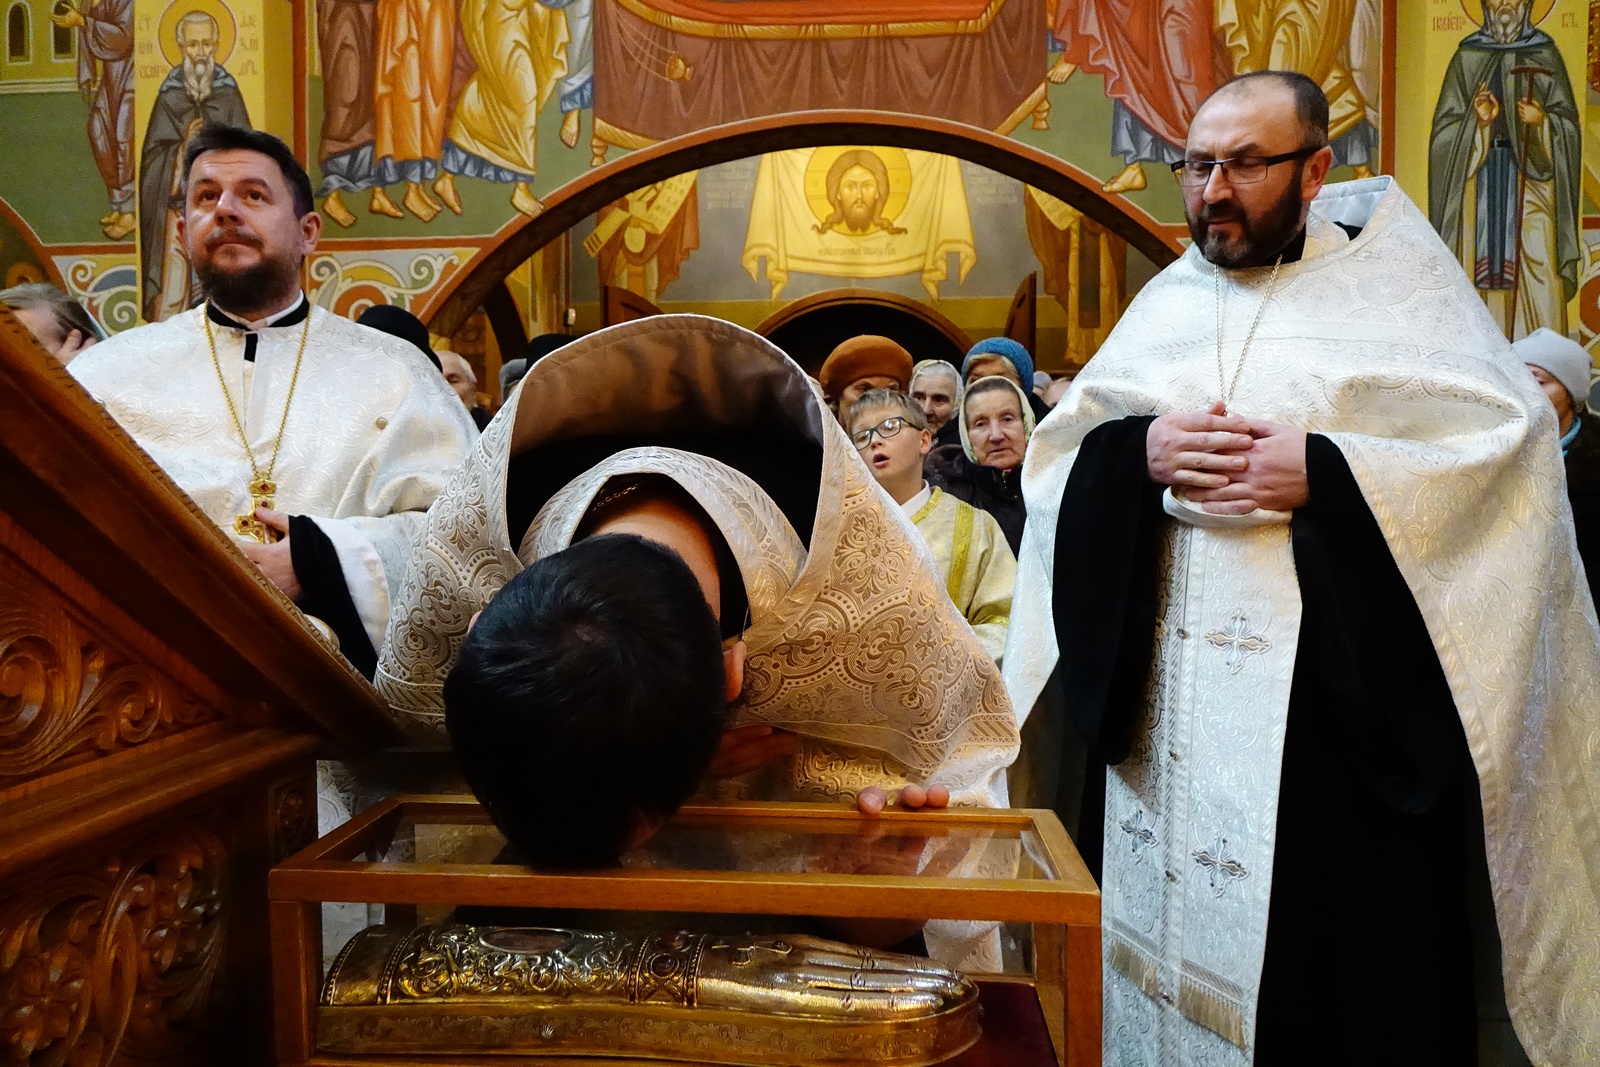
[{"label": "large dark wooden arch curving beneath the upper fresco", "polygon": [[501,294],[509,298],[506,278],[536,251],[635,189],[717,163],[827,144],[882,144],[954,155],[1064,200],[1122,237],[1157,267],[1182,254],[1182,245],[1149,213],[1101,192],[1098,178],[1032,146],[947,118],[810,110],[747,118],[661,141],[566,182],[546,197],[544,211],[531,219],[518,216],[501,227],[466,269],[427,302],[421,317],[435,334],[454,333],[475,309],[502,302]]}]

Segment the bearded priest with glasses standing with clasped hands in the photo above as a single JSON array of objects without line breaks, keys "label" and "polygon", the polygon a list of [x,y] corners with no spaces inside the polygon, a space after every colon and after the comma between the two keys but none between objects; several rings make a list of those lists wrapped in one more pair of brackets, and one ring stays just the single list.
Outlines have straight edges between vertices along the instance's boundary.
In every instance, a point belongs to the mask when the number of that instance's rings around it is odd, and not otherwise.
[{"label": "bearded priest with glasses standing with clasped hands", "polygon": [[1059,662],[1109,765],[1106,1064],[1600,1062],[1554,418],[1392,179],[1322,187],[1296,77],[1202,107],[1195,246],[1024,469],[1006,680],[1026,709]]}]

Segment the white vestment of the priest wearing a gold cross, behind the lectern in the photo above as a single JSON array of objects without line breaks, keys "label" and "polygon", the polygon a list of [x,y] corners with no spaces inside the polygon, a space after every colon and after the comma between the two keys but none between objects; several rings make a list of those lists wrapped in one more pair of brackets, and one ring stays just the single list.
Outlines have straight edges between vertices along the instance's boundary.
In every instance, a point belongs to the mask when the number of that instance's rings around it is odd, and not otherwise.
[{"label": "white vestment of the priest wearing a gold cross, behind the lectern", "polygon": [[[250,461],[229,416],[202,317],[118,333],[67,368],[206,517],[232,533],[250,514]],[[312,306],[306,355],[283,418],[304,323],[256,333],[211,323],[218,365],[266,469],[283,427],[277,510],[306,515],[339,553],[378,648],[422,512],[477,435],[461,400],[411,344]]]}]

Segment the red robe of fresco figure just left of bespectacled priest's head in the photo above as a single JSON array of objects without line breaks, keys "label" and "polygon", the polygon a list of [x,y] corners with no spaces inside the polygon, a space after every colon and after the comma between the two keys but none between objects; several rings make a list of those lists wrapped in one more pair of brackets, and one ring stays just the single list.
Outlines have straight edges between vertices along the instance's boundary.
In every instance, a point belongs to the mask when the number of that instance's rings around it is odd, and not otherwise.
[{"label": "red robe of fresco figure just left of bespectacled priest's head", "polygon": [[1213,18],[1211,0],[1061,0],[1056,38],[1067,62],[1104,75],[1106,96],[1181,147],[1216,88]]}]

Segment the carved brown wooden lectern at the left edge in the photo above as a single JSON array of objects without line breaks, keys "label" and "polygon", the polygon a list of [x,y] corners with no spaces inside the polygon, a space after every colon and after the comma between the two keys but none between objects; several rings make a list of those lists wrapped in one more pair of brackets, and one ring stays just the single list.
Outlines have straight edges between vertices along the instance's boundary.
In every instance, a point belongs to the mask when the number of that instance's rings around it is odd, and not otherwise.
[{"label": "carved brown wooden lectern at the left edge", "polygon": [[272,1062],[267,869],[317,750],[397,739],[0,307],[0,1054]]}]

